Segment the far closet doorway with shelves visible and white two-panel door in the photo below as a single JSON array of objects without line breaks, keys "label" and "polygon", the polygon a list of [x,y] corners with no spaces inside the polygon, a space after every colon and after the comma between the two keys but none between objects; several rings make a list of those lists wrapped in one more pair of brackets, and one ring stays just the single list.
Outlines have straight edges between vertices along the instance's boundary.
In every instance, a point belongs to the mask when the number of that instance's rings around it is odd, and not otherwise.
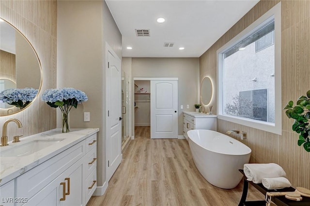
[{"label": "far closet doorway with shelves visible and white two-panel door", "polygon": [[135,127],[150,127],[151,139],[178,137],[178,78],[134,78]]}]

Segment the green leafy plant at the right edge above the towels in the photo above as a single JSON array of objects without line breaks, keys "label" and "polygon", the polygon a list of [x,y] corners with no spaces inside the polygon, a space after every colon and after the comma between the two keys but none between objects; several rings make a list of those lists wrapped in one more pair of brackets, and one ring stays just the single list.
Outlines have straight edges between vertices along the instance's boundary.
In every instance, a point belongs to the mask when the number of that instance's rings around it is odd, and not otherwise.
[{"label": "green leafy plant at the right edge above the towels", "polygon": [[288,118],[295,120],[292,129],[299,134],[298,146],[303,145],[304,149],[310,152],[310,90],[307,96],[297,99],[296,106],[293,101],[289,101],[284,110]]}]

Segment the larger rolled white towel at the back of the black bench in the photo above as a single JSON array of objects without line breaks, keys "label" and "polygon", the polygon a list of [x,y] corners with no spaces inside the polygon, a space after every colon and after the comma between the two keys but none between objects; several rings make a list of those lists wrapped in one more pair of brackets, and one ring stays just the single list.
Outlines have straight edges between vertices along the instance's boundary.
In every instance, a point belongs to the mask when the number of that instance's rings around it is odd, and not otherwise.
[{"label": "larger rolled white towel at the back of the black bench", "polygon": [[243,171],[248,181],[253,181],[256,184],[262,183],[264,177],[272,178],[286,176],[283,168],[276,163],[244,164]]}]

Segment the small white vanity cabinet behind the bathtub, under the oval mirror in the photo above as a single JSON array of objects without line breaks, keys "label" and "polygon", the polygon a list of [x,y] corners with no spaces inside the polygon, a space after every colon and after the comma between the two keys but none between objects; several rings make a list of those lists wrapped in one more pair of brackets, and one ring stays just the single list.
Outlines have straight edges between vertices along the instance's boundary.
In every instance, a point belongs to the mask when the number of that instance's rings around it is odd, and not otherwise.
[{"label": "small white vanity cabinet behind the bathtub, under the oval mirror", "polygon": [[191,129],[217,130],[217,115],[198,112],[183,112],[183,136],[188,139],[187,131]]}]

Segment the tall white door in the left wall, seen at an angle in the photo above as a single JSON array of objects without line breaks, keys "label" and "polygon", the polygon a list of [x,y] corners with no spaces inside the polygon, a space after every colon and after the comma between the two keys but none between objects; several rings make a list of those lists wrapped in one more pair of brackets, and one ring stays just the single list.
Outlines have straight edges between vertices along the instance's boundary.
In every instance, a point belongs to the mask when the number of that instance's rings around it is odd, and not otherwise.
[{"label": "tall white door in the left wall, seen at an angle", "polygon": [[107,181],[114,174],[122,160],[122,88],[121,88],[121,60],[115,52],[107,46],[106,82],[107,82]]}]

